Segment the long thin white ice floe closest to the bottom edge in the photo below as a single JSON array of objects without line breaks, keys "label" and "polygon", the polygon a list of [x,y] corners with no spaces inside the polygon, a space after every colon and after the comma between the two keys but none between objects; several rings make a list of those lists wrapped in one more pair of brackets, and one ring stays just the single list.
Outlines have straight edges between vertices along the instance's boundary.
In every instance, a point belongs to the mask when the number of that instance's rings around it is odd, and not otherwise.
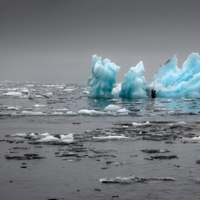
[{"label": "long thin white ice floe closest to the bottom edge", "polygon": [[101,178],[101,183],[144,183],[148,181],[175,181],[172,177],[116,177],[116,178]]}]

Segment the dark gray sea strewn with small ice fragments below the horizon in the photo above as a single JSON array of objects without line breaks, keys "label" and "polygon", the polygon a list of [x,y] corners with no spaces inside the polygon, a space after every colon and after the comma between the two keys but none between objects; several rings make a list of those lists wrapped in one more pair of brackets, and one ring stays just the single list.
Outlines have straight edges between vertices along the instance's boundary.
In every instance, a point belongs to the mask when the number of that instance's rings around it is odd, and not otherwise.
[{"label": "dark gray sea strewn with small ice fragments below the horizon", "polygon": [[[87,94],[86,84],[0,85],[1,199],[199,199],[199,99]],[[69,133],[72,143],[38,142]]]}]

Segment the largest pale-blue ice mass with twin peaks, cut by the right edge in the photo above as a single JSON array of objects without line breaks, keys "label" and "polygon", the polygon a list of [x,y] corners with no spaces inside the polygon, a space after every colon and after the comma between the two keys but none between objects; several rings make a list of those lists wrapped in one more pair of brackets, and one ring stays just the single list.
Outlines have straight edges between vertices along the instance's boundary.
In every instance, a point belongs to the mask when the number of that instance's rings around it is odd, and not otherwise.
[{"label": "largest pale-blue ice mass with twin peaks, cut by the right edge", "polygon": [[156,90],[156,97],[200,97],[200,56],[192,53],[183,63],[177,66],[174,55],[162,65],[148,85]]}]

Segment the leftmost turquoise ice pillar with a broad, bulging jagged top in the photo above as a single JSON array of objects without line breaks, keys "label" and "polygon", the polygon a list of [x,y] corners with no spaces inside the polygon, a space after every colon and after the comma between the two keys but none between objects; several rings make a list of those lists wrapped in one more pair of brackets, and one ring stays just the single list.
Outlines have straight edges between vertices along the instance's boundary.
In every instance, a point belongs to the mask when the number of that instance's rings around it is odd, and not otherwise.
[{"label": "leftmost turquoise ice pillar with a broad, bulging jagged top", "polygon": [[88,80],[91,87],[89,98],[112,98],[113,86],[116,82],[115,77],[120,67],[112,63],[109,59],[101,61],[101,57],[93,56],[92,77]]}]

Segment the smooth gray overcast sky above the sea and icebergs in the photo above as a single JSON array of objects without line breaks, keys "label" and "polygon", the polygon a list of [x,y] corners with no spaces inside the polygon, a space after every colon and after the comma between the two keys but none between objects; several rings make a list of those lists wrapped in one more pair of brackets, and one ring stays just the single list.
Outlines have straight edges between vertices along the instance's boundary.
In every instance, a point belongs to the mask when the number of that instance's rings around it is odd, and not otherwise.
[{"label": "smooth gray overcast sky above the sea and icebergs", "polygon": [[0,81],[86,82],[92,55],[149,81],[200,53],[199,0],[0,0]]}]

